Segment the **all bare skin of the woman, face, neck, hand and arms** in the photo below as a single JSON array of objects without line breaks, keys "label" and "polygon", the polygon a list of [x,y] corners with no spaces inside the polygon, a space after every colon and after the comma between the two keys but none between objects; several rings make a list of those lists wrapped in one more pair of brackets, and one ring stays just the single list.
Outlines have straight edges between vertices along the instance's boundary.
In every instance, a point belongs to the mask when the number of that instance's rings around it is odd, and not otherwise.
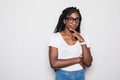
[{"label": "all bare skin of the woman, face, neck, hand and arms", "polygon": [[[68,17],[79,18],[76,12],[72,13]],[[85,41],[83,37],[77,31],[75,31],[75,29],[77,28],[76,26],[78,26],[79,22],[74,20],[71,23],[70,20],[65,20],[65,19],[63,20],[63,22],[65,24],[65,29],[61,31],[60,34],[62,35],[63,39],[68,45],[74,45],[77,41],[79,42]],[[74,37],[76,37],[77,40],[74,40],[73,39]],[[90,67],[92,63],[92,56],[91,56],[90,48],[88,48],[86,44],[83,44],[81,46],[82,46],[82,51],[83,51],[82,57],[78,56],[78,57],[73,57],[70,59],[58,59],[58,49],[56,47],[50,46],[49,47],[49,60],[50,60],[51,67],[54,69],[63,68],[63,67],[67,67],[73,64],[78,64],[78,63],[83,68],[85,66]]]}]

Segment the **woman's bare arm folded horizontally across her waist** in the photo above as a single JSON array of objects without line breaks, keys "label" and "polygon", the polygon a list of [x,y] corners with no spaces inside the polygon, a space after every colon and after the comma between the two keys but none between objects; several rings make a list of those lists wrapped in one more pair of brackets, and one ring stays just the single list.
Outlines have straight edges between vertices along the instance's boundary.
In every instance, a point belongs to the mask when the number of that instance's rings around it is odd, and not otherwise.
[{"label": "woman's bare arm folded horizontally across her waist", "polygon": [[73,64],[80,63],[82,58],[75,57],[70,59],[58,59],[58,49],[49,46],[49,61],[52,68],[63,68]]}]

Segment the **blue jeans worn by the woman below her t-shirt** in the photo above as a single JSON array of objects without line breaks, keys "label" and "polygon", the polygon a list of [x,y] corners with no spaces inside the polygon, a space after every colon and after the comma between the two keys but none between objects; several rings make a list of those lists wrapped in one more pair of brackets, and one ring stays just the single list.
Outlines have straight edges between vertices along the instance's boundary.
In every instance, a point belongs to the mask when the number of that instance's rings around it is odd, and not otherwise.
[{"label": "blue jeans worn by the woman below her t-shirt", "polygon": [[64,71],[59,69],[56,71],[56,80],[85,80],[84,70]]}]

